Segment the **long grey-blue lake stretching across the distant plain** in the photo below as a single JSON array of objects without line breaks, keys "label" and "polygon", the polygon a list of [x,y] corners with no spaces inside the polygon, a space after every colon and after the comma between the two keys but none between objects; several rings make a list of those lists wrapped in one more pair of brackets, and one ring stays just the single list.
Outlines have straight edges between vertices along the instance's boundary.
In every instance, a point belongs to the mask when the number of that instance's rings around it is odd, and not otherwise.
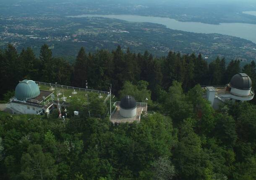
[{"label": "long grey-blue lake stretching across the distant plain", "polygon": [[244,38],[256,43],[256,25],[245,23],[220,23],[219,25],[197,23],[197,22],[181,22],[170,18],[160,18],[140,15],[76,15],[68,16],[70,18],[86,18],[86,17],[102,17],[126,20],[129,22],[146,22],[158,23],[165,25],[167,28],[175,30],[183,30],[193,33],[219,33]]}]

